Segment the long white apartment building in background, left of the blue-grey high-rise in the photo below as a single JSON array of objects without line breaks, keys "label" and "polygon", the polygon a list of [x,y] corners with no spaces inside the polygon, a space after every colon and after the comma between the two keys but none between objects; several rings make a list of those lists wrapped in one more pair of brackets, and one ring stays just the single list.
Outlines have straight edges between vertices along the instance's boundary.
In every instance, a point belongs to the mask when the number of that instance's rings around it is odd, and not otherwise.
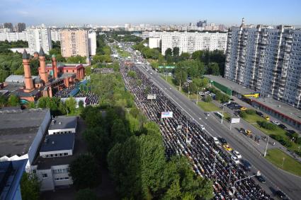
[{"label": "long white apartment building in background, left of the blue-grey high-rise", "polygon": [[166,49],[174,47],[179,47],[180,53],[190,54],[198,50],[217,49],[225,52],[227,49],[227,33],[149,32],[149,38],[157,37],[161,39],[162,54],[165,54]]}]

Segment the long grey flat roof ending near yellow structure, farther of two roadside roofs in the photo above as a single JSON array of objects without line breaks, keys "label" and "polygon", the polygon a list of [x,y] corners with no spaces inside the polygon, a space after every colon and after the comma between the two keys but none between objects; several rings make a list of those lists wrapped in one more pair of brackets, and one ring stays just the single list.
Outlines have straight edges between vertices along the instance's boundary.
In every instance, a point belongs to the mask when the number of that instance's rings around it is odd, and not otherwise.
[{"label": "long grey flat roof ending near yellow structure, farther of two roadside roofs", "polygon": [[242,95],[247,95],[247,94],[256,92],[254,90],[251,90],[250,88],[246,88],[245,86],[239,85],[238,83],[235,83],[234,81],[230,81],[227,78],[223,78],[222,76],[213,76],[213,75],[204,75],[204,76],[206,78],[209,78],[212,81],[220,83],[223,86],[226,86],[227,88],[234,90],[237,93],[240,93]]}]

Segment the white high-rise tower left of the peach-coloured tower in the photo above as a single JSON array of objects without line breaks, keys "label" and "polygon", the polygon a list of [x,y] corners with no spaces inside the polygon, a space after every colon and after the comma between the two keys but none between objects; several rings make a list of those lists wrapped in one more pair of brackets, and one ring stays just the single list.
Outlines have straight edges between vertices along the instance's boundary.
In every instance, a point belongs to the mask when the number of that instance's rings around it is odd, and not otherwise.
[{"label": "white high-rise tower left of the peach-coloured tower", "polygon": [[28,37],[29,53],[38,52],[40,47],[48,54],[52,49],[51,35],[49,28],[30,28],[26,30]]}]

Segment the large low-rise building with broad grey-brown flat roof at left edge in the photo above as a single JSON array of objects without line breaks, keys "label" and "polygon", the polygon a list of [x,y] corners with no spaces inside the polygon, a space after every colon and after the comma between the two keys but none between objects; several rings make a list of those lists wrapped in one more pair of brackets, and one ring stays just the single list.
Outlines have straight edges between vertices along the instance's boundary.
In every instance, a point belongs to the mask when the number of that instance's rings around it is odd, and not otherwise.
[{"label": "large low-rise building with broad grey-brown flat roof at left edge", "polygon": [[50,123],[50,110],[4,107],[0,122],[0,161],[28,159],[28,172]]}]

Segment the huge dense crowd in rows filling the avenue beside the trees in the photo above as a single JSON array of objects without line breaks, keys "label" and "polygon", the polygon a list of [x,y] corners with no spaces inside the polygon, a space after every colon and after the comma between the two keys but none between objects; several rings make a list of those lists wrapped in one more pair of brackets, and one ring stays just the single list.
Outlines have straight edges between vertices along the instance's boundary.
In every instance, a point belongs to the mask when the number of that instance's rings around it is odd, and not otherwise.
[{"label": "huge dense crowd in rows filling the avenue beside the trees", "polygon": [[[135,71],[137,76],[128,76],[129,70]],[[148,119],[159,124],[166,157],[186,155],[197,175],[212,180],[215,199],[273,199],[252,178],[247,178],[248,173],[232,163],[212,137],[186,117],[136,66],[127,67],[121,63],[120,72],[127,90],[135,96],[137,107]],[[140,86],[137,78],[141,80]],[[148,100],[146,91],[156,98]],[[173,112],[173,116],[161,119],[161,112]]]}]

